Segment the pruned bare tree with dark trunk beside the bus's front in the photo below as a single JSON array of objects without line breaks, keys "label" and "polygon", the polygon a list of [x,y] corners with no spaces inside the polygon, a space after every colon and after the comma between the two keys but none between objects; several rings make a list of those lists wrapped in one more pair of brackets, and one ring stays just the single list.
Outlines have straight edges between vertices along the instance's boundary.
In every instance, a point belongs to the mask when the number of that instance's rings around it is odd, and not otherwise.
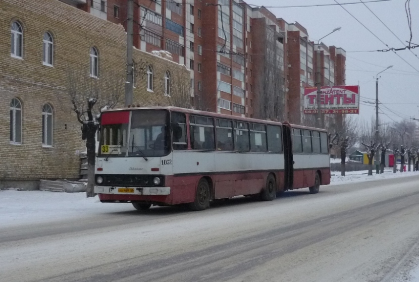
[{"label": "pruned bare tree with dark trunk beside the bus's front", "polygon": [[124,93],[125,77],[120,73],[103,72],[100,79],[90,77],[85,69],[67,68],[64,93],[59,94],[63,110],[72,110],[82,124],[82,139],[86,140],[87,197],[94,196],[94,165],[96,131],[104,108],[115,107]]}]

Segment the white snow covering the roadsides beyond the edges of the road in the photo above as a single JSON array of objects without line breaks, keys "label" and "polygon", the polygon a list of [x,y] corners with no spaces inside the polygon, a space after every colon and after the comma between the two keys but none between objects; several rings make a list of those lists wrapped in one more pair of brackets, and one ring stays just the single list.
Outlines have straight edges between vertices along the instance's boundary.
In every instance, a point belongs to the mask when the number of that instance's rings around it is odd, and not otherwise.
[{"label": "white snow covering the roadsides beyond the edges of the road", "polygon": [[[374,181],[386,178],[419,175],[419,172],[367,175],[368,171],[348,172],[346,177],[340,172],[332,172],[331,185],[353,182]],[[0,227],[7,228],[23,224],[52,222],[63,219],[77,219],[97,214],[133,210],[131,204],[99,202],[98,197],[86,198],[85,193],[56,193],[46,191],[18,191],[17,189],[0,191]],[[410,273],[409,282],[419,282],[419,266]]]}]

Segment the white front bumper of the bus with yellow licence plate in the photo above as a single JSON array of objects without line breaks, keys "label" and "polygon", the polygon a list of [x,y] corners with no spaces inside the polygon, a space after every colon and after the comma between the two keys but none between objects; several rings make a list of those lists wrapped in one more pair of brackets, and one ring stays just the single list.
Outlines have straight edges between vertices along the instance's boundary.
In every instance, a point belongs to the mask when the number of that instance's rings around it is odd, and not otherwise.
[{"label": "white front bumper of the bus with yellow licence plate", "polygon": [[94,193],[115,195],[170,195],[170,187],[95,186]]}]

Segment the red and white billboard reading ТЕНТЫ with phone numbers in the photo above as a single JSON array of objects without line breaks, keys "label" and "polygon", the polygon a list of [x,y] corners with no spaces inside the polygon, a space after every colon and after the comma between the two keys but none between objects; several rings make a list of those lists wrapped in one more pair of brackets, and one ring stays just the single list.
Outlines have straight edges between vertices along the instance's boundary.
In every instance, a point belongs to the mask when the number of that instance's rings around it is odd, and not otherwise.
[{"label": "red and white billboard reading \u0422\u0415\u041d\u0422\u042b with phone numbers", "polygon": [[[359,114],[359,86],[323,86],[322,114]],[[317,87],[304,88],[304,114],[317,114]]]}]

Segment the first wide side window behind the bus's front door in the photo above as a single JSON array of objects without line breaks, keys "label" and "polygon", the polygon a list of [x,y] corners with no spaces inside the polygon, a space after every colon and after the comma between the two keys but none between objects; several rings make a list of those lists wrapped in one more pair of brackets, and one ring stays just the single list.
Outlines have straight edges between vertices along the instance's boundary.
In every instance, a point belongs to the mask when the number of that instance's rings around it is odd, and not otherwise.
[{"label": "first wide side window behind the bus's front door", "polygon": [[212,118],[190,116],[189,125],[191,149],[215,149],[214,120]]}]

